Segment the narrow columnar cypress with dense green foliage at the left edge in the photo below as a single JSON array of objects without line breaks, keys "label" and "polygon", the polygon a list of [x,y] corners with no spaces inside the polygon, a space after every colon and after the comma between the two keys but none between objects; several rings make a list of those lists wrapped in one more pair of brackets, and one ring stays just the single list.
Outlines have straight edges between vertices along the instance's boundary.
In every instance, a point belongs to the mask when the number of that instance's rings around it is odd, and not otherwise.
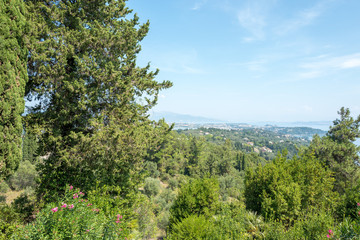
[{"label": "narrow columnar cypress with dense green foliage at the left edge", "polygon": [[28,79],[25,16],[22,0],[0,0],[0,181],[22,158],[21,114]]}]

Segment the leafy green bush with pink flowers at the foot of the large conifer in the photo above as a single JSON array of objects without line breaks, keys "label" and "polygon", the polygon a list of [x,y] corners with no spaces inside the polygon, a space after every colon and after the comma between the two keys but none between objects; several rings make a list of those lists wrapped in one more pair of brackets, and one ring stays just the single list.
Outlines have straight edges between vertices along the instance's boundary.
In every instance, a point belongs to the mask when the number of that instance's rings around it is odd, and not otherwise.
[{"label": "leafy green bush with pink flowers at the foot of the large conifer", "polygon": [[21,227],[12,239],[124,239],[128,236],[122,215],[106,215],[75,189],[65,199],[47,204],[32,224]]}]

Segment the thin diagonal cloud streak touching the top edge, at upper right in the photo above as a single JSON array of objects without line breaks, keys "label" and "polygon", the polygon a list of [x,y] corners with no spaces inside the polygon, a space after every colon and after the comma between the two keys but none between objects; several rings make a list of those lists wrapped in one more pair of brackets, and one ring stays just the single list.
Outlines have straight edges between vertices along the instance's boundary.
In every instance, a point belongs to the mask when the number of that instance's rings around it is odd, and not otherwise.
[{"label": "thin diagonal cloud streak touching the top edge, at upper right", "polygon": [[317,18],[319,18],[325,10],[329,7],[329,3],[334,0],[322,0],[317,2],[314,6],[301,10],[293,19],[286,21],[280,25],[276,32],[283,35],[288,32],[295,31],[299,28],[312,24]]}]

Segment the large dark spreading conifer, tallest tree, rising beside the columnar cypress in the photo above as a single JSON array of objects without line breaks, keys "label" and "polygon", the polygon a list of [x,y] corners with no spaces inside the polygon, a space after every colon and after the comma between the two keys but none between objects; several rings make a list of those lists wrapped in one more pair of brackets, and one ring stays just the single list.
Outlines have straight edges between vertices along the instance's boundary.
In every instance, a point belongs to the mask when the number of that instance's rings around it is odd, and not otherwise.
[{"label": "large dark spreading conifer, tallest tree, rising beside the columnar cypress", "polygon": [[[148,119],[161,89],[158,71],[138,67],[139,23],[124,0],[29,1],[38,42],[30,49],[27,117],[39,135],[41,195],[94,182],[136,189],[147,150],[166,131]],[[50,194],[47,194],[50,193]]]}]

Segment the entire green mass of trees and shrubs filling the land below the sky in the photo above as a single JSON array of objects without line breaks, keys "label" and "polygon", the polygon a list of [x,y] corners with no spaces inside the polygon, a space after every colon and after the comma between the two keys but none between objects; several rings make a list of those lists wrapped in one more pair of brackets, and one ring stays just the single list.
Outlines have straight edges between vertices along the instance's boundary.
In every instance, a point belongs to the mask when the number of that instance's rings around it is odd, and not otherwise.
[{"label": "entire green mass of trees and shrubs filling the land below the sky", "polygon": [[359,239],[360,116],[171,131],[125,3],[0,1],[0,239]]}]

